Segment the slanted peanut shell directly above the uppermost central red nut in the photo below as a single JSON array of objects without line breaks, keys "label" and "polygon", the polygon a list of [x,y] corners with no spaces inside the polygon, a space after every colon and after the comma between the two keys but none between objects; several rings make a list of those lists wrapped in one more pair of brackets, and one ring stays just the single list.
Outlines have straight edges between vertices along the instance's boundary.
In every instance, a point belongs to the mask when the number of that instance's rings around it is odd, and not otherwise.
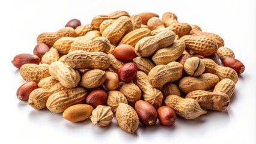
[{"label": "slanted peanut shell directly above the uppermost central red nut", "polygon": [[144,37],[151,36],[151,31],[148,28],[139,28],[124,35],[119,44],[129,44],[135,47],[136,43]]}]

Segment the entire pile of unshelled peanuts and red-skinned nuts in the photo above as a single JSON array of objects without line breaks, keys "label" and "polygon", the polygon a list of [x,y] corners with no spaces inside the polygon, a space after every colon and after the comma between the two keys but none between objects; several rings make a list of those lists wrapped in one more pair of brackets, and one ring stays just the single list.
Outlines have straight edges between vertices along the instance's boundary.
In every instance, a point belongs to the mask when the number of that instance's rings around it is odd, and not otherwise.
[{"label": "entire pile of unshelled peanuts and red-skinned nuts", "polygon": [[139,122],[173,125],[226,110],[245,66],[219,35],[178,22],[174,13],[72,19],[37,37],[34,55],[13,58],[26,83],[17,98],[71,122],[91,119],[134,133]]}]

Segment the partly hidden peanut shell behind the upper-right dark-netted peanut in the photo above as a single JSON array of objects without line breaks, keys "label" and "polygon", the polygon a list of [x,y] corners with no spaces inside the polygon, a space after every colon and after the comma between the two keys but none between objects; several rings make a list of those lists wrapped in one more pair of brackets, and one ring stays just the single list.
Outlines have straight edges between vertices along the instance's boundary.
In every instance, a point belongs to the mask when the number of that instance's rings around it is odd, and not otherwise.
[{"label": "partly hidden peanut shell behind the upper-right dark-netted peanut", "polygon": [[192,31],[190,31],[189,34],[190,35],[199,35],[199,36],[212,38],[218,44],[218,47],[224,46],[224,40],[221,37],[219,37],[219,35],[216,35],[216,34],[213,34],[213,33],[210,33],[210,32],[202,32],[202,31],[197,30],[197,29],[192,29]]}]

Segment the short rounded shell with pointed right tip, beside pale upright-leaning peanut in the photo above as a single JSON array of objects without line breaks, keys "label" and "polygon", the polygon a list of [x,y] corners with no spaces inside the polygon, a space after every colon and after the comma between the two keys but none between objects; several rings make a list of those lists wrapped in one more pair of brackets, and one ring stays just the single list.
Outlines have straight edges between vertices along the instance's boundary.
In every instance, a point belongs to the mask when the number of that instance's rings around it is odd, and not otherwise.
[{"label": "short rounded shell with pointed right tip, beside pale upright-leaning peanut", "polygon": [[80,85],[84,88],[97,88],[106,80],[106,72],[99,69],[87,71],[81,79]]}]

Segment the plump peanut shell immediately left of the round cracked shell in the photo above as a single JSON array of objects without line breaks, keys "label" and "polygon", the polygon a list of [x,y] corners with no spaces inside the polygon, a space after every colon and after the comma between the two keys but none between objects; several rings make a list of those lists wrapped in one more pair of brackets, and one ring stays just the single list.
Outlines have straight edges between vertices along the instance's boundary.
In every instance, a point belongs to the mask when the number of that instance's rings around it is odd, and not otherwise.
[{"label": "plump peanut shell immediately left of the round cracked shell", "polygon": [[175,82],[182,76],[183,66],[179,62],[167,65],[156,65],[148,73],[148,82],[154,88],[160,88],[167,82]]}]

